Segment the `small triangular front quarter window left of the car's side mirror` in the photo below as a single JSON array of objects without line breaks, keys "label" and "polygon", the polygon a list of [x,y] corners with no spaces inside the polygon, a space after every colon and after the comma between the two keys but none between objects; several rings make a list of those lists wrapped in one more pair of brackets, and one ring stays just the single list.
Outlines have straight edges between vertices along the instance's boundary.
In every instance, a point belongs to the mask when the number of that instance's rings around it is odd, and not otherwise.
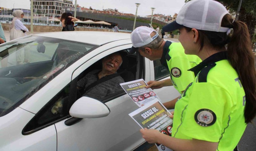
[{"label": "small triangular front quarter window left of the car's side mirror", "polygon": [[49,101],[25,126],[22,133],[28,135],[67,117],[70,84]]}]

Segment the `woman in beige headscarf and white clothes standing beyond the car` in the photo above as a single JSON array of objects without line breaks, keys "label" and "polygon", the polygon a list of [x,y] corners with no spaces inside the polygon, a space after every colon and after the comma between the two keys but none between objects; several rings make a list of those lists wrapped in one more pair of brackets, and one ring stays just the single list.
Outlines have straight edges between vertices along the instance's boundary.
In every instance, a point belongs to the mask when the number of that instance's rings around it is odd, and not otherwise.
[{"label": "woman in beige headscarf and white clothes standing beyond the car", "polygon": [[[26,36],[25,32],[28,32],[28,29],[23,25],[21,19],[24,17],[24,13],[22,10],[14,10],[12,12],[14,16],[12,22],[10,24],[10,40],[17,39],[23,36]],[[25,34],[23,34],[25,33]]]}]

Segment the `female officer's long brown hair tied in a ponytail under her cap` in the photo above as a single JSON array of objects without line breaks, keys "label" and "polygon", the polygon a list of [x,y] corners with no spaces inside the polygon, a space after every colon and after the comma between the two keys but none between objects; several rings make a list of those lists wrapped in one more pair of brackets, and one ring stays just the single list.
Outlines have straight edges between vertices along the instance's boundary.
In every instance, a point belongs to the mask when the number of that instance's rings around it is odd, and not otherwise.
[{"label": "female officer's long brown hair tied in a ponytail under her cap", "polygon": [[[229,14],[223,17],[221,27],[232,28],[233,33],[227,35],[224,32],[197,30],[200,50],[204,44],[210,44],[216,49],[223,50],[227,44],[228,60],[237,71],[245,90],[244,116],[245,122],[249,123],[256,115],[256,71],[250,34],[244,22],[234,21]],[[185,29],[187,32],[191,31],[191,28],[185,27]]]}]

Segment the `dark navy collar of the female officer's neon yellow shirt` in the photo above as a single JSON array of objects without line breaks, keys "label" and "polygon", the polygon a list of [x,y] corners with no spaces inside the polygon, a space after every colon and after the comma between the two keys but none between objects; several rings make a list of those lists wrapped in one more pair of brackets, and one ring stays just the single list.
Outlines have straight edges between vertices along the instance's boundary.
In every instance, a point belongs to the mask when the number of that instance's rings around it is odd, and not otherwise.
[{"label": "dark navy collar of the female officer's neon yellow shirt", "polygon": [[193,68],[189,69],[188,71],[193,71],[195,73],[195,76],[199,73],[199,71],[202,70],[207,65],[210,65],[212,63],[218,62],[220,60],[227,59],[227,51],[221,51],[218,53],[215,53],[211,55],[210,57],[203,60],[198,65],[194,66]]}]

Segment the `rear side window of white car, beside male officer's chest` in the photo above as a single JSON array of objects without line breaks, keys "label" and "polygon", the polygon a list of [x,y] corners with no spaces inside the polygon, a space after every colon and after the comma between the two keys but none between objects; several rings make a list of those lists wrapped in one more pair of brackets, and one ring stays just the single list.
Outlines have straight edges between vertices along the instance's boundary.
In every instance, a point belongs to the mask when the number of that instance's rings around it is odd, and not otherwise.
[{"label": "rear side window of white car, beside male officer's chest", "polygon": [[161,80],[169,76],[170,73],[168,69],[161,64],[160,59],[154,60],[153,63],[154,63],[155,80]]}]

